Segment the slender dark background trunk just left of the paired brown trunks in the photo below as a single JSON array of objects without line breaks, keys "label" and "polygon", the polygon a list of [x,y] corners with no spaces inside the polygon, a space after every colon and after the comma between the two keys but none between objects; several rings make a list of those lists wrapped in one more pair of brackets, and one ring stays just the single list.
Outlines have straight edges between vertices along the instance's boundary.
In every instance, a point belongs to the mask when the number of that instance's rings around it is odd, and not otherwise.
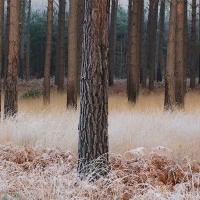
[{"label": "slender dark background trunk just left of the paired brown trunks", "polygon": [[164,23],[165,23],[165,0],[163,0],[161,2],[161,6],[160,6],[160,27],[159,27],[159,51],[158,51],[157,82],[161,82],[162,81]]}]

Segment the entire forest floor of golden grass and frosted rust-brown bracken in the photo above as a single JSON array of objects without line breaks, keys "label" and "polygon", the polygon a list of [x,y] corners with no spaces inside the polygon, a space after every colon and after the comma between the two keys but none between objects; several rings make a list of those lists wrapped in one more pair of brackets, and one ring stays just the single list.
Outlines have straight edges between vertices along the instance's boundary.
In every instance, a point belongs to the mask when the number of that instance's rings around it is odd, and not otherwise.
[{"label": "entire forest floor of golden grass and frosted rust-brown bracken", "polygon": [[[42,90],[42,80],[20,81],[19,96]],[[42,98],[19,99],[19,114],[0,124],[1,199],[200,199],[200,89],[189,90],[184,111],[163,111],[164,86],[140,90],[136,105],[126,81],[109,88],[109,174],[80,181],[77,111],[51,87]],[[95,164],[95,163],[94,163]]]}]

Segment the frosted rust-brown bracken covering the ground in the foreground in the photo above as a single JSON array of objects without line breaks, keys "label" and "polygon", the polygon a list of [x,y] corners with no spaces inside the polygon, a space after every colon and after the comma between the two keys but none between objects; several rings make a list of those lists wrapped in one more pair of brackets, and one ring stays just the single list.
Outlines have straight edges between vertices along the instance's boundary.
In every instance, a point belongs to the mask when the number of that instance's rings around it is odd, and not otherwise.
[{"label": "frosted rust-brown bracken covering the ground in the foreground", "polygon": [[[158,147],[111,154],[108,177],[77,177],[77,160],[62,149],[0,145],[0,197],[16,199],[199,199],[200,162],[181,164]],[[95,162],[93,163],[95,165]]]}]

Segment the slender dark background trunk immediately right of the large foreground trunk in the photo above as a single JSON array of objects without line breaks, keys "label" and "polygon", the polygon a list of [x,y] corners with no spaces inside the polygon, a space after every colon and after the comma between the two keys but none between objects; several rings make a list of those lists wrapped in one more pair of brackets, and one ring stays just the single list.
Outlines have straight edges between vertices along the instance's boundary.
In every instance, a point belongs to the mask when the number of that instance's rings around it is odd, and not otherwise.
[{"label": "slender dark background trunk immediately right of the large foreground trunk", "polygon": [[118,0],[112,0],[111,23],[109,31],[109,86],[113,85],[115,52],[116,52],[116,22],[117,22]]}]

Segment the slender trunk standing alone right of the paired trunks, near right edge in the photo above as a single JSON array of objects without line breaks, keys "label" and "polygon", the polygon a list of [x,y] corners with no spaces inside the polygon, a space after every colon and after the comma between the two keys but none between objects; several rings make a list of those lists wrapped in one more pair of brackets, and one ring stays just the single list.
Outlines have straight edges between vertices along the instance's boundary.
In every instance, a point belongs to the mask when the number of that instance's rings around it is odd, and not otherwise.
[{"label": "slender trunk standing alone right of the paired trunks, near right edge", "polygon": [[196,0],[192,0],[192,28],[191,28],[191,72],[190,87],[195,88],[196,77]]}]

